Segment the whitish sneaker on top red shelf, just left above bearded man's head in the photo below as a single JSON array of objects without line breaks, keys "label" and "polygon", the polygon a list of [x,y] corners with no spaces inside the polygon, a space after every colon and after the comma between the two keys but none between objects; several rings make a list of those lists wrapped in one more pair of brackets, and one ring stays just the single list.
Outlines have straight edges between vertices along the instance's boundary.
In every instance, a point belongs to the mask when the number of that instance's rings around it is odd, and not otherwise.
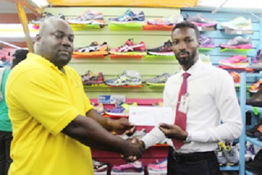
[{"label": "whitish sneaker on top red shelf, just left above bearded man's head", "polygon": [[168,15],[163,18],[157,18],[147,21],[147,25],[157,25],[157,26],[163,26],[163,25],[171,25],[174,26],[179,22],[184,21],[184,18],[181,14],[179,15]]}]

